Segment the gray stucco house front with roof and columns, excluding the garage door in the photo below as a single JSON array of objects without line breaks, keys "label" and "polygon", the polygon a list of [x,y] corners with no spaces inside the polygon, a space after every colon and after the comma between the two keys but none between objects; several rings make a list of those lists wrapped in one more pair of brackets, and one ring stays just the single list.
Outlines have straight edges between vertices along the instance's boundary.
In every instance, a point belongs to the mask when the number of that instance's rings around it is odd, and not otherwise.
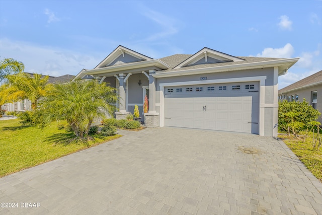
[{"label": "gray stucco house front with roof and columns, excluding the garage door", "polygon": [[[250,132],[277,136],[278,76],[297,60],[234,57],[206,47],[194,55],[152,59],[119,46],[97,67],[82,72],[97,79],[104,78],[111,86],[115,83],[120,95],[118,113],[133,113],[134,105],[138,105],[142,119],[151,127],[165,126],[165,89],[169,86],[257,83],[258,101],[252,107],[252,117],[257,114],[258,125],[252,126]],[[149,107],[143,114],[145,94]]]}]

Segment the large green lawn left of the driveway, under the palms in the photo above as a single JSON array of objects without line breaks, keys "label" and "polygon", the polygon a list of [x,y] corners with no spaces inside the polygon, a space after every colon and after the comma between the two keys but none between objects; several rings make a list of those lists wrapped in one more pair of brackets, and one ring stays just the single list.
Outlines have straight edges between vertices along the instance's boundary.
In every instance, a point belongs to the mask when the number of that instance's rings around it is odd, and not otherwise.
[{"label": "large green lawn left of the driveway, under the palms", "polygon": [[100,136],[86,144],[71,141],[74,134],[58,130],[57,123],[42,129],[20,119],[0,121],[0,177],[97,146],[121,135]]}]

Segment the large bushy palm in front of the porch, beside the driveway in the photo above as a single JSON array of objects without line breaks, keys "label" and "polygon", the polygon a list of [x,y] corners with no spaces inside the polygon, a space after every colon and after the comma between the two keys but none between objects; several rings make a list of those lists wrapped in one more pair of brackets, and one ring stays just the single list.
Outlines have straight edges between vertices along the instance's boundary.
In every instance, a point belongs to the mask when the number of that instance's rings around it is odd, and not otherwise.
[{"label": "large bushy palm in front of the porch, beside the driveway", "polygon": [[48,95],[39,100],[37,122],[43,126],[65,119],[76,134],[84,139],[95,119],[106,118],[116,110],[116,89],[96,80],[75,80],[55,84]]}]

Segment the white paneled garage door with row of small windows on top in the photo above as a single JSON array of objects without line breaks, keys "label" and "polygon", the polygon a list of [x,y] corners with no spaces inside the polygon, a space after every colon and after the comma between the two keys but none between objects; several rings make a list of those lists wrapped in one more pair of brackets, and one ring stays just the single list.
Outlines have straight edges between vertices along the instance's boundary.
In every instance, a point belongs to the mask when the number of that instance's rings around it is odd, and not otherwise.
[{"label": "white paneled garage door with row of small windows on top", "polygon": [[165,88],[165,125],[258,133],[259,83]]}]

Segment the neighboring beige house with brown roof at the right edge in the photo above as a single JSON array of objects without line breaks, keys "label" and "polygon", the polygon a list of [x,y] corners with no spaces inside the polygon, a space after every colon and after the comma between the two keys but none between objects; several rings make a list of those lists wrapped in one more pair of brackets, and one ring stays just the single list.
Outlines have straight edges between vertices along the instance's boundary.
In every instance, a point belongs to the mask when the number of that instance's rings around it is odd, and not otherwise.
[{"label": "neighboring beige house with brown roof at the right edge", "polygon": [[[302,102],[304,98],[314,109],[322,111],[322,70],[278,91],[280,101]],[[322,118],[317,121],[322,123]]]}]

